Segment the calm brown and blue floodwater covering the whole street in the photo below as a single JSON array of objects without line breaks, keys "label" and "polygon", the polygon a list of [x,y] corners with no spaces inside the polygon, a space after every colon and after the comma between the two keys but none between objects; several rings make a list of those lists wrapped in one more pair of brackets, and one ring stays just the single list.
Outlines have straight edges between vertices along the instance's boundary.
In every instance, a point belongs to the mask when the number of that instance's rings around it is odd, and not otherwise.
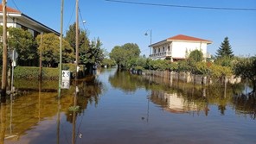
[{"label": "calm brown and blue floodwater covering the whole street", "polygon": [[[244,84],[193,85],[104,69],[72,82],[16,80],[1,103],[0,143],[256,143]],[[77,91],[77,92],[75,92]]]}]

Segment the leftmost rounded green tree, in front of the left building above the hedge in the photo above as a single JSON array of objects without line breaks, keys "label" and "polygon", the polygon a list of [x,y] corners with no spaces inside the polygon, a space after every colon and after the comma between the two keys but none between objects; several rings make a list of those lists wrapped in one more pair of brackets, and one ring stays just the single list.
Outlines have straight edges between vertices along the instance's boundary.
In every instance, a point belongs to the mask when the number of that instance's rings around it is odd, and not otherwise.
[{"label": "leftmost rounded green tree, in front of the left building above the hedge", "polygon": [[38,58],[36,53],[36,43],[34,37],[29,31],[22,28],[8,28],[10,36],[8,43],[10,49],[16,48],[18,53],[18,63],[22,66],[31,66],[36,64],[35,59]]}]

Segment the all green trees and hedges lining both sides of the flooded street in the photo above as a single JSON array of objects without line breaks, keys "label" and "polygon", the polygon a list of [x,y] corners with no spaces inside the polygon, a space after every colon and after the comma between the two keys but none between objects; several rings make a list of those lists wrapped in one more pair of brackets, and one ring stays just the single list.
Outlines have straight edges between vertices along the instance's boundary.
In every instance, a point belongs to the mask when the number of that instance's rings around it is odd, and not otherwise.
[{"label": "all green trees and hedges lining both sides of the flooded street", "polygon": [[[3,27],[0,26],[0,33]],[[8,28],[9,52],[16,49],[18,57],[16,66],[29,66],[16,68],[15,73],[22,73],[22,78],[38,78],[34,68],[39,66],[40,53],[42,48],[42,67],[57,68],[59,64],[60,39],[55,34],[37,34],[34,37],[29,31],[22,28]],[[170,72],[190,72],[200,74],[208,78],[226,78],[232,75],[248,79],[253,84],[253,91],[256,91],[256,56],[236,57],[229,44],[228,38],[224,38],[221,46],[210,59],[203,59],[202,52],[195,50],[188,53],[187,59],[171,62],[170,58],[152,60],[140,56],[140,49],[136,43],[125,43],[122,46],[115,46],[111,53],[106,53],[102,48],[99,38],[88,39],[86,30],[79,29],[79,65],[84,67],[82,71],[92,72],[95,66],[118,66],[119,69],[130,70],[155,70]],[[75,23],[69,26],[62,41],[62,63],[67,70],[74,67],[75,62]],[[42,47],[41,47],[42,46]],[[1,45],[2,47],[2,45]],[[0,57],[2,48],[0,48]],[[9,58],[9,67],[11,59]],[[2,59],[0,59],[2,64]],[[31,67],[32,66],[32,67]],[[27,71],[29,68],[33,71]],[[44,69],[46,70],[46,69]],[[35,71],[36,68],[35,68]],[[51,70],[50,70],[51,71]],[[74,71],[74,70],[72,70]],[[48,79],[55,79],[57,76],[48,72]],[[85,72],[82,72],[85,73]],[[32,77],[33,76],[33,77]],[[16,75],[16,77],[18,77]],[[47,77],[47,76],[46,76]]]}]

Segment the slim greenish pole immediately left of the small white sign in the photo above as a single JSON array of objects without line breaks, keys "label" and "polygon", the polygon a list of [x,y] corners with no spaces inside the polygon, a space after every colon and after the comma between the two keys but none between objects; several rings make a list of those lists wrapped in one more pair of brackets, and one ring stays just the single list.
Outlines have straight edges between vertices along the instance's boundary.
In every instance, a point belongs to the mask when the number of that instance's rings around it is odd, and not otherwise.
[{"label": "slim greenish pole immediately left of the small white sign", "polygon": [[63,39],[63,7],[64,0],[61,0],[61,39],[60,39],[60,73],[59,73],[59,91],[58,97],[61,97],[61,73],[62,73],[62,39]]}]

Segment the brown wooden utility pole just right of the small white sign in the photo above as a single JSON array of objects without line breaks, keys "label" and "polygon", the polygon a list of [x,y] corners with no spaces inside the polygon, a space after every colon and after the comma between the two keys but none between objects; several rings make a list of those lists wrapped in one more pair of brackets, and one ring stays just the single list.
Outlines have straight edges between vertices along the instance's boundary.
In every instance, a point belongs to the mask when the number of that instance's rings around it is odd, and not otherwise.
[{"label": "brown wooden utility pole just right of the small white sign", "polygon": [[76,0],[76,24],[75,24],[75,80],[78,78],[78,64],[79,64],[79,19],[78,19],[79,0]]}]

